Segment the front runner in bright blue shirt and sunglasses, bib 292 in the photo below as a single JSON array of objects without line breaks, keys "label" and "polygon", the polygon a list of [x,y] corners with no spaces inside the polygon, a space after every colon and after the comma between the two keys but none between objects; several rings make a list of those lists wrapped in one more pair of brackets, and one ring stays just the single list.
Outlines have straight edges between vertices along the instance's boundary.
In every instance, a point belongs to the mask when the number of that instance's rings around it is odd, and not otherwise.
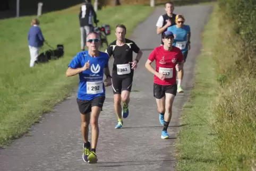
[{"label": "front runner in bright blue shirt and sunglasses, bib 292", "polygon": [[[88,50],[78,53],[69,64],[66,76],[79,74],[78,108],[82,120],[83,160],[87,163],[97,163],[96,146],[98,142],[98,117],[105,101],[105,86],[111,85],[108,68],[108,54],[98,50],[100,37],[96,32],[87,36]],[[103,81],[103,76],[107,79]],[[89,123],[91,117],[91,144],[88,141]]]}]

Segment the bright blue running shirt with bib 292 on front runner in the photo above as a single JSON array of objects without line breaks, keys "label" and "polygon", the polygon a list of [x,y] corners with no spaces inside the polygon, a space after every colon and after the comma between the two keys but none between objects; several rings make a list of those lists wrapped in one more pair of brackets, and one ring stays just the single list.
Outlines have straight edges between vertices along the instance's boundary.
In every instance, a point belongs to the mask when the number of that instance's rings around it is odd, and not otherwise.
[{"label": "bright blue running shirt with bib 292 on front runner", "polygon": [[105,96],[103,82],[104,67],[108,66],[108,54],[99,52],[97,57],[91,57],[88,50],[78,53],[69,64],[69,67],[76,69],[83,67],[88,61],[90,69],[79,73],[78,98],[81,100],[92,100],[98,96]]}]

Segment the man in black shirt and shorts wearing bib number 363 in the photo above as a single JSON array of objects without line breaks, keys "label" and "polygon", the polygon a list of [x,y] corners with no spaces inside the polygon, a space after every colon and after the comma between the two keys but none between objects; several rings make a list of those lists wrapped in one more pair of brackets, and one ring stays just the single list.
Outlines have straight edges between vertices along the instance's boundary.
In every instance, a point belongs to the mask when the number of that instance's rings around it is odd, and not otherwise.
[{"label": "man in black shirt and shorts wearing bib number 363", "polygon": [[[132,89],[133,72],[137,67],[138,62],[142,56],[140,48],[134,41],[126,39],[126,28],[123,24],[116,25],[117,40],[109,44],[106,49],[109,58],[113,55],[114,64],[112,71],[112,87],[114,92],[114,107],[118,123],[116,129],[123,126],[123,118],[129,115],[130,92]],[[138,54],[133,60],[133,52]],[[123,110],[121,106],[123,102]]]}]

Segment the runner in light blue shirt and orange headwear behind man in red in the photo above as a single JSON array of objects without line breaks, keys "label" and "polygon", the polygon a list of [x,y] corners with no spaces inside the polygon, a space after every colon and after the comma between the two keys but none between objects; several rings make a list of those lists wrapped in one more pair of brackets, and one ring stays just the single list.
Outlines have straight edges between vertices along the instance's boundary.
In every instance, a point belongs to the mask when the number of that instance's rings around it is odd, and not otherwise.
[{"label": "runner in light blue shirt and orange headwear behind man in red", "polygon": [[[181,49],[184,63],[186,61],[187,53],[189,53],[190,50],[190,26],[185,25],[185,18],[182,14],[176,15],[175,19],[176,25],[172,25],[168,27],[167,31],[173,32],[174,34],[174,42],[173,46],[176,46]],[[181,82],[183,79],[184,70],[178,72],[178,85],[177,85],[177,92],[183,92],[183,89],[181,87]]]}]

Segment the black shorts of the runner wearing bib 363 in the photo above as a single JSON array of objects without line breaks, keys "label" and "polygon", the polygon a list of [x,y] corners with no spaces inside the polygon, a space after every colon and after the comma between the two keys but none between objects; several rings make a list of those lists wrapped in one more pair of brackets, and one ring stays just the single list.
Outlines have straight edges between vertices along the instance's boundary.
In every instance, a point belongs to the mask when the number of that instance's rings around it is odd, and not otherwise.
[{"label": "black shorts of the runner wearing bib 363", "polygon": [[131,92],[132,80],[133,80],[133,75],[127,75],[125,77],[112,75],[112,88],[113,88],[114,95],[121,94],[123,90],[127,90]]}]

